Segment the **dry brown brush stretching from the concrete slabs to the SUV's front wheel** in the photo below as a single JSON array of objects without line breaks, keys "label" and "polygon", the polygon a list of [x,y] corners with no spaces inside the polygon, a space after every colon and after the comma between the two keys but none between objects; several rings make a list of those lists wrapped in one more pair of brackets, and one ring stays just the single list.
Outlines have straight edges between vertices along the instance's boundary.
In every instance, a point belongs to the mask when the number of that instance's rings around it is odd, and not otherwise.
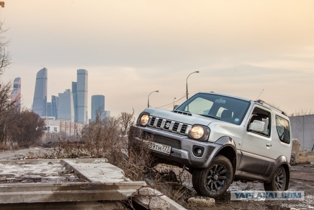
[{"label": "dry brown brush stretching from the concrete slabs to the SUV's front wheel", "polygon": [[[126,131],[134,122],[133,114],[122,113],[118,118],[96,120],[86,125],[75,141],[62,139],[54,148],[56,158],[106,158],[109,163],[121,168],[126,177],[133,181],[146,181],[148,185],[185,206],[191,197],[190,188],[186,187],[190,174],[175,166],[156,166],[155,158],[148,147],[151,139],[142,141],[137,147],[128,142]],[[130,131],[129,136],[133,135]],[[131,143],[131,142],[130,142]],[[193,193],[192,193],[193,194]]]}]

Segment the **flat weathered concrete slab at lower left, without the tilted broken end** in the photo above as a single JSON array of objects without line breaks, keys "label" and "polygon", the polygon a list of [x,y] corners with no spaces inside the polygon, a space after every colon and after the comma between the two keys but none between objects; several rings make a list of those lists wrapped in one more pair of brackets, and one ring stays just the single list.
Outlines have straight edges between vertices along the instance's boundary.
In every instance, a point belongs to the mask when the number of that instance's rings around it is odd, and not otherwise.
[{"label": "flat weathered concrete slab at lower left, without the tilted broken end", "polygon": [[[12,173],[7,173],[10,171]],[[73,170],[80,182],[60,181],[60,173]],[[50,183],[17,182],[21,177],[52,178]],[[121,169],[105,159],[42,159],[0,161],[0,204],[68,201],[126,200],[146,185],[130,181]],[[23,179],[20,179],[23,180]]]}]

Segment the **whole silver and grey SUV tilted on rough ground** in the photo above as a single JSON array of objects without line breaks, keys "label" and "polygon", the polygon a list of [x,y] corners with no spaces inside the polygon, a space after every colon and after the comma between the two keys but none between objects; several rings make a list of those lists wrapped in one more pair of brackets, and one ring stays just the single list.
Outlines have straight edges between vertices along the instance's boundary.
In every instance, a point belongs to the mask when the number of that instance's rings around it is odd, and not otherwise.
[{"label": "whole silver and grey SUV tilted on rough ground", "polygon": [[200,92],[173,111],[147,108],[131,126],[129,148],[143,141],[158,162],[187,169],[203,196],[217,198],[237,180],[288,189],[289,118],[261,100]]}]

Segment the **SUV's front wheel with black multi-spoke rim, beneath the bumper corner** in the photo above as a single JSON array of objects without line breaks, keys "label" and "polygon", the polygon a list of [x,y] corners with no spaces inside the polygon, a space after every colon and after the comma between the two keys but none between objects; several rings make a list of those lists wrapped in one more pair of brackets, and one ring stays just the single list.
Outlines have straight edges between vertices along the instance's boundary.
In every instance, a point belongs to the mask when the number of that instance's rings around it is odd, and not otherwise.
[{"label": "SUV's front wheel with black multi-spoke rim, beneath the bumper corner", "polygon": [[199,194],[210,198],[222,196],[233,178],[230,160],[217,155],[207,169],[195,169],[192,173],[193,187]]}]

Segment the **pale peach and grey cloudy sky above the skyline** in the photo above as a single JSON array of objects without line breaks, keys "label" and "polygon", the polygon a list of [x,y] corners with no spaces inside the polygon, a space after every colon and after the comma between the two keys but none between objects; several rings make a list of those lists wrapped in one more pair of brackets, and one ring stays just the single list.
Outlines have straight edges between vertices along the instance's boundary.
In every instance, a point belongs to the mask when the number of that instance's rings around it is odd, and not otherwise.
[{"label": "pale peach and grey cloudy sky above the skyline", "polygon": [[[313,0],[5,0],[12,64],[31,108],[36,73],[51,95],[88,71],[105,110],[138,115],[214,91],[267,101],[288,114],[314,112]],[[175,99],[176,98],[176,99]],[[165,106],[167,105],[167,106]]]}]

